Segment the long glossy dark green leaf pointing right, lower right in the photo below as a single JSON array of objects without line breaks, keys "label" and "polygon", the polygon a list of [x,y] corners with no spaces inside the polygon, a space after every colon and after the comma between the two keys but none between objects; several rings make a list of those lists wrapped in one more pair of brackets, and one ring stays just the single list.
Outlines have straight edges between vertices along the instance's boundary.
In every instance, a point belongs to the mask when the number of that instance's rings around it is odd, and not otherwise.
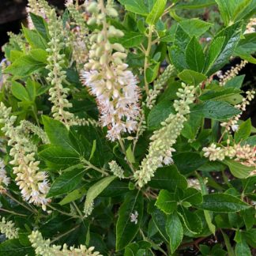
[{"label": "long glossy dark green leaf pointing right, lower right", "polygon": [[250,205],[230,194],[205,194],[202,204],[197,207],[216,213],[234,213],[248,209]]}]

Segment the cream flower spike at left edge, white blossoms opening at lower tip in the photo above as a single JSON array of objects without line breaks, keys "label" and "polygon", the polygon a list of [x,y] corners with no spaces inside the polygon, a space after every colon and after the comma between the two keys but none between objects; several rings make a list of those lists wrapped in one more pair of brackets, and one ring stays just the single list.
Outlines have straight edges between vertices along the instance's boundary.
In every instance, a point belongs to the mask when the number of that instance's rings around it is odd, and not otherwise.
[{"label": "cream flower spike at left edge, white blossoms opening at lower tip", "polygon": [[4,126],[2,131],[9,137],[8,145],[12,147],[9,155],[13,160],[13,173],[17,175],[15,181],[20,187],[24,200],[35,205],[41,205],[46,209],[49,199],[46,195],[49,191],[47,174],[39,171],[40,161],[36,161],[36,146],[24,135],[24,128],[14,127],[16,116],[11,115],[11,108],[7,108],[3,103],[0,104],[0,123]]}]

